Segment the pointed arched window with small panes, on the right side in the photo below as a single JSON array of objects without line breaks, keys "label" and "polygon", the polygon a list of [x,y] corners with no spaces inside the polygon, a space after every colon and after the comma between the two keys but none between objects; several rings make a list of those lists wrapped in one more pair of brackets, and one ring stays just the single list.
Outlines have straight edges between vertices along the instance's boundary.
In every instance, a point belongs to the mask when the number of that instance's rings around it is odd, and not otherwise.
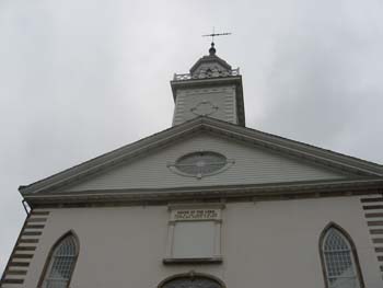
[{"label": "pointed arched window with small panes, on the right side", "polygon": [[320,250],[327,288],[363,288],[357,251],[346,231],[329,224],[321,235]]}]

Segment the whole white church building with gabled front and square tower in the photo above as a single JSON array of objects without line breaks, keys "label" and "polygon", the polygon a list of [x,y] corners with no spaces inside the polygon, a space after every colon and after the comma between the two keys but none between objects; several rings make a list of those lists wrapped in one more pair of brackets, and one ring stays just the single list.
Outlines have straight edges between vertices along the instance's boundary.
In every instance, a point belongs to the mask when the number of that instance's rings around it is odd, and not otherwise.
[{"label": "whole white church building with gabled front and square tower", "polygon": [[382,288],[383,166],[245,126],[216,55],[173,126],[27,186],[1,288]]}]

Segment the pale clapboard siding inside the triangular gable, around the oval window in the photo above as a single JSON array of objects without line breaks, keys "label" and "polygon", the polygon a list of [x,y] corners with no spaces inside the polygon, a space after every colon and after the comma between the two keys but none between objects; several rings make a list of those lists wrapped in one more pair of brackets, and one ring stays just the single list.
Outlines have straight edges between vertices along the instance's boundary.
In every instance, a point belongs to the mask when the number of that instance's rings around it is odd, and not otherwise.
[{"label": "pale clapboard siding inside the triangular gable, around the oval window", "polygon": [[[185,153],[201,150],[222,153],[235,163],[220,174],[201,180],[181,176],[166,166],[166,163],[174,163]],[[341,177],[345,175],[204,133],[115,168],[68,191],[263,184]]]}]

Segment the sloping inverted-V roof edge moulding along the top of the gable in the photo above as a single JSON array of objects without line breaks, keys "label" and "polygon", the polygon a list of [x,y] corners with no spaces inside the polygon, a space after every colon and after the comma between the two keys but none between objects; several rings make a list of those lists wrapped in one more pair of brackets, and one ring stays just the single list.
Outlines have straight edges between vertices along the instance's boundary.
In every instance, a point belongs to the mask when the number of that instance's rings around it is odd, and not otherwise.
[{"label": "sloping inverted-V roof edge moulding along the top of the gable", "polygon": [[58,186],[67,185],[74,180],[97,173],[103,169],[120,163],[130,157],[136,157],[151,149],[155,149],[159,146],[166,145],[197,130],[208,130],[223,134],[232,138],[256,143],[257,146],[280,151],[293,157],[304,158],[310,161],[317,162],[333,169],[344,170],[360,176],[383,176],[382,166],[372,162],[339,154],[279,136],[265,134],[259,130],[241,127],[223,120],[199,116],[181,125],[173,126],[169,129],[113,150],[108,153],[102,154],[97,158],[91,159],[86,162],[80,163],[70,169],[63,170],[62,172],[56,173],[27,186],[20,186],[19,191],[22,195],[25,195],[28,193],[38,193],[48,188],[57,188]]}]

